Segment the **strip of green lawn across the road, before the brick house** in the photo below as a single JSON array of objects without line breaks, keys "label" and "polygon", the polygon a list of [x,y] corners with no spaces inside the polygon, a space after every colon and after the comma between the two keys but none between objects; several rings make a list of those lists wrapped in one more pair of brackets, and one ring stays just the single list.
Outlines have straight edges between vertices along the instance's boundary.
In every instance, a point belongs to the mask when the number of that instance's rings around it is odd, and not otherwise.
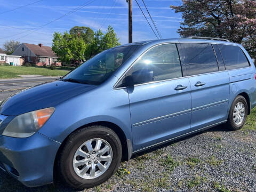
[{"label": "strip of green lawn across the road, before the brick house", "polygon": [[19,78],[18,75],[63,76],[69,70],[51,70],[39,67],[0,66],[0,79]]}]

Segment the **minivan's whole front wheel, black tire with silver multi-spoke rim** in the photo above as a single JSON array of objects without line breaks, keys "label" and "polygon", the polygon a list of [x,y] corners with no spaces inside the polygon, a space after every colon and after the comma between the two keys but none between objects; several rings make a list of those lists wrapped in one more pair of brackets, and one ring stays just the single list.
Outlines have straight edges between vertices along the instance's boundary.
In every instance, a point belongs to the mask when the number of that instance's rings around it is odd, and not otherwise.
[{"label": "minivan's whole front wheel, black tire with silver multi-spoke rim", "polygon": [[[87,143],[89,143],[89,145],[87,145]],[[90,143],[92,148],[90,147]],[[97,143],[101,143],[100,150],[97,150]],[[83,147],[81,148],[81,146]],[[89,148],[87,148],[87,146],[89,146]],[[107,152],[103,154],[105,147]],[[83,151],[83,156],[89,154],[90,157],[79,156],[81,154],[81,149]],[[89,149],[91,149],[91,152]],[[97,155],[101,153],[100,151],[102,151],[102,154]],[[84,155],[84,153],[86,155]],[[110,156],[112,156],[111,161],[109,160]],[[108,158],[109,162],[101,161],[103,158]],[[60,174],[60,178],[62,178],[70,187],[76,189],[92,188],[105,182],[116,172],[121,162],[121,158],[122,145],[117,134],[105,126],[89,126],[79,129],[69,135],[60,152],[58,172]],[[76,167],[78,164],[75,164],[75,162],[77,161],[86,161],[86,164]],[[104,167],[102,168],[101,165],[107,168],[103,169]],[[90,168],[85,172],[88,166],[90,166]],[[94,177],[89,175],[93,175],[93,166],[96,170]],[[100,167],[101,169],[99,169]]]}]

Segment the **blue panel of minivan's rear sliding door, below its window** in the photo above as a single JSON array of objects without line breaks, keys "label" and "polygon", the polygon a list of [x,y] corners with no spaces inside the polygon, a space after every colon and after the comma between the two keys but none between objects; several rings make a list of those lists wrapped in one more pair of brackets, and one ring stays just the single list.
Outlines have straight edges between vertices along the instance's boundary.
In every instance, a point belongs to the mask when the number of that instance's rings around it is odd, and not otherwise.
[{"label": "blue panel of minivan's rear sliding door, below its window", "polygon": [[[225,121],[229,99],[228,72],[191,76],[189,81],[192,101],[191,130]],[[205,85],[195,86],[197,82]]]}]

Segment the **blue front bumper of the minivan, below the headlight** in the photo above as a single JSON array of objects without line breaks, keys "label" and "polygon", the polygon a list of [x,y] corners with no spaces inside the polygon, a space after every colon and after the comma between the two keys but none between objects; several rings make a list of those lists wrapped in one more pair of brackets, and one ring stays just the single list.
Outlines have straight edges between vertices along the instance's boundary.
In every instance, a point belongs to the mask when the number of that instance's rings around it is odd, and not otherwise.
[{"label": "blue front bumper of the minivan, below the headlight", "polygon": [[0,136],[0,168],[27,187],[51,183],[59,147],[41,133],[28,138]]}]

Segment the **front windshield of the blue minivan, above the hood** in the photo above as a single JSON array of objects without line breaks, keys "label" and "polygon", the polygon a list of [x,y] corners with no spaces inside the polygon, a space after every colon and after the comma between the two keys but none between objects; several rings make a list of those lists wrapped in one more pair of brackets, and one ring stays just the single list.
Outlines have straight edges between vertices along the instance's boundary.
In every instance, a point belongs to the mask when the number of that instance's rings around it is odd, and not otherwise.
[{"label": "front windshield of the blue minivan, above the hood", "polygon": [[68,73],[61,81],[100,85],[105,82],[140,45],[115,47],[95,55]]}]

